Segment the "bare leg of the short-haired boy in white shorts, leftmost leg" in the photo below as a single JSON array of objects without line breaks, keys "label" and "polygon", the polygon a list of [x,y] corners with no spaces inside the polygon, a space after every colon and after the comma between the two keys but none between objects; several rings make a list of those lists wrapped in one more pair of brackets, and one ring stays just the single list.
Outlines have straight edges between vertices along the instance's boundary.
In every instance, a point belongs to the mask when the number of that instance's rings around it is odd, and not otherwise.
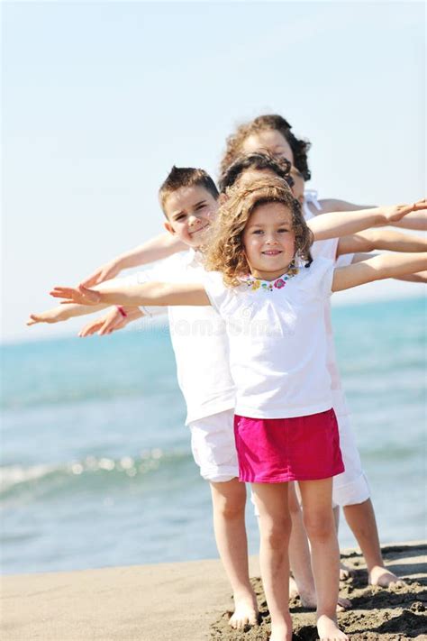
[{"label": "bare leg of the short-haired boy in white shorts, leftmost leg", "polygon": [[257,599],[250,585],[248,540],[245,528],[246,487],[238,479],[211,481],[213,529],[216,546],[232,584],[232,627],[241,629],[258,620]]}]

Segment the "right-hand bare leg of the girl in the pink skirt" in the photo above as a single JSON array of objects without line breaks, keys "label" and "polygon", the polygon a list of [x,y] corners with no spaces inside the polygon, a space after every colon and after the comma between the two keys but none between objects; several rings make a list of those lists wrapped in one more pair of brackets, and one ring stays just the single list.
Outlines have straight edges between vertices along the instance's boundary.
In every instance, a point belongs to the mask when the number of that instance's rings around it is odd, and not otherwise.
[{"label": "right-hand bare leg of the girl in the pink skirt", "polygon": [[332,479],[299,481],[304,526],[312,548],[317,594],[317,631],[321,641],[348,639],[337,625],[340,549],[332,513]]}]

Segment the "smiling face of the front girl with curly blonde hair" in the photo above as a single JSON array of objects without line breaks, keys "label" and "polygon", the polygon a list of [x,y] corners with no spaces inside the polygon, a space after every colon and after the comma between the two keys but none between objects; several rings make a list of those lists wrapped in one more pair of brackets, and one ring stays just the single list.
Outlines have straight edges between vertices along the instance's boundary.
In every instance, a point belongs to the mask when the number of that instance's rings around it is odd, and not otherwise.
[{"label": "smiling face of the front girl with curly blonde hair", "polygon": [[253,210],[243,232],[250,273],[274,280],[284,274],[295,256],[292,213],[282,203],[262,203]]}]

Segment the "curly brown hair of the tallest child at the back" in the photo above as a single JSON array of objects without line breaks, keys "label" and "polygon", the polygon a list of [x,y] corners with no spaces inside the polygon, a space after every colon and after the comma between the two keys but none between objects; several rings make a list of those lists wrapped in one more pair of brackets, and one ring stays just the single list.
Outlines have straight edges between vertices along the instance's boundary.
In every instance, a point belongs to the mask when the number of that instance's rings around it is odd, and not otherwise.
[{"label": "curly brown hair of the tallest child at the back", "polygon": [[227,146],[221,161],[220,172],[224,173],[225,169],[241,154],[243,142],[259,132],[277,131],[282,134],[288,142],[294,154],[294,165],[296,169],[301,171],[304,180],[311,179],[310,169],[308,169],[307,152],[311,147],[311,143],[296,138],[291,131],[292,126],[278,114],[259,115],[258,118],[250,121],[250,123],[241,124],[232,135],[227,138]]}]

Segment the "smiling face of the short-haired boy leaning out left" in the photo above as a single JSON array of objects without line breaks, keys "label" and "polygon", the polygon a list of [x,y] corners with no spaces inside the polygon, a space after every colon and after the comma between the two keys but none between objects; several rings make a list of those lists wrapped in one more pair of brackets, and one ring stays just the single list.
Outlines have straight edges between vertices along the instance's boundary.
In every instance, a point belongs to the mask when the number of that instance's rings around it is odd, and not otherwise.
[{"label": "smiling face of the short-haired boy leaning out left", "polygon": [[168,232],[197,249],[204,243],[206,230],[218,210],[218,202],[200,185],[180,187],[168,195],[164,210],[168,218],[165,223]]}]

